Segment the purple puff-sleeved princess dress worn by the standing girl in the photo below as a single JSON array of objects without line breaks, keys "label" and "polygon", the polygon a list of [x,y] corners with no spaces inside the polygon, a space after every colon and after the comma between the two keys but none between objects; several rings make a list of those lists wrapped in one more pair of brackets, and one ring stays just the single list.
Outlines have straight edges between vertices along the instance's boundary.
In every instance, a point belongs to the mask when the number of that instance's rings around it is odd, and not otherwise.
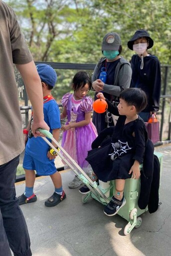
[{"label": "purple puff-sleeved princess dress worn by the standing girl", "polygon": [[[85,113],[92,111],[92,104],[93,99],[89,96],[75,100],[72,93],[66,93],[62,97],[62,105],[67,109],[67,122],[65,124],[84,120]],[[62,147],[86,173],[92,171],[85,158],[96,137],[97,130],[92,121],[85,126],[71,128],[63,132]]]}]

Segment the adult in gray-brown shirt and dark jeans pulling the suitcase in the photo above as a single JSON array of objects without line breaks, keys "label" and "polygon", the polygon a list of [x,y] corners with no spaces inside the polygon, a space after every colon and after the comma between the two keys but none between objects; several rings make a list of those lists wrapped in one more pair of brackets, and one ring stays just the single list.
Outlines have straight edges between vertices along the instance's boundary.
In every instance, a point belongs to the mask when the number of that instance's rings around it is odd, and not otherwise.
[{"label": "adult in gray-brown shirt and dark jeans pulling the suitcase", "polygon": [[11,248],[14,256],[30,256],[28,230],[14,185],[24,141],[13,63],[32,104],[33,134],[42,135],[36,129],[49,127],[44,122],[41,81],[15,13],[0,0],[0,255],[10,256]]}]

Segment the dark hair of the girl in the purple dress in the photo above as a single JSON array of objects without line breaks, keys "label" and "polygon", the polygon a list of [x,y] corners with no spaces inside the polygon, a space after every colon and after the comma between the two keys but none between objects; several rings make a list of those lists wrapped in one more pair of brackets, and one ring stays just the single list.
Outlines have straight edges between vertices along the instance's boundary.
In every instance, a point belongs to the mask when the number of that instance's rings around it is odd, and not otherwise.
[{"label": "dark hair of the girl in the purple dress", "polygon": [[85,71],[79,71],[74,75],[74,78],[72,79],[72,86],[74,90],[78,90],[79,88],[82,88],[88,83],[89,90],[91,89],[92,82],[90,75]]}]

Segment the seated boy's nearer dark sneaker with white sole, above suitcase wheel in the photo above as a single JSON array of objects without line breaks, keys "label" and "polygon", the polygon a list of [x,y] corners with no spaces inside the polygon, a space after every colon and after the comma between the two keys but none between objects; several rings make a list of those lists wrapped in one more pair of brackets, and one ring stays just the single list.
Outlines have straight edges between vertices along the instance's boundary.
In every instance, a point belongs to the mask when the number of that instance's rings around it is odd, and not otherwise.
[{"label": "seated boy's nearer dark sneaker with white sole, above suitcase wheel", "polygon": [[104,213],[108,216],[115,215],[118,210],[126,204],[125,197],[122,200],[116,199],[114,196],[111,198],[110,202],[105,206]]}]

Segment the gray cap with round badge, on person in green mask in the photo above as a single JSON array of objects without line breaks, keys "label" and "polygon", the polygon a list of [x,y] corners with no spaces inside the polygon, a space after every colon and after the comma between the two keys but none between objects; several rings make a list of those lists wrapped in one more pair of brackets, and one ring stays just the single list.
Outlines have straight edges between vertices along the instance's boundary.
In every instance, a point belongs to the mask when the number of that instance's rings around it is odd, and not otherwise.
[{"label": "gray cap with round badge, on person in green mask", "polygon": [[102,42],[102,51],[103,50],[119,50],[121,45],[121,38],[119,34],[115,32],[109,32],[105,34]]}]

